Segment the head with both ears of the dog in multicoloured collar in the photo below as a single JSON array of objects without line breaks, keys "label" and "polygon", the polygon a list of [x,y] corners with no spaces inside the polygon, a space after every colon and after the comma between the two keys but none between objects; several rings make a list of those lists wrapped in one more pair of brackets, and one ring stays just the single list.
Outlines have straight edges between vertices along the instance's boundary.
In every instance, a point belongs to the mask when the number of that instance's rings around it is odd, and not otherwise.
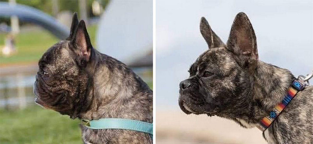
[{"label": "head with both ears of the dog in multicoloured collar", "polygon": [[238,13],[227,45],[204,17],[200,31],[209,49],[192,64],[189,78],[180,83],[180,108],[187,114],[235,118],[249,108],[251,100],[250,77],[258,62],[253,27],[243,12]]}]

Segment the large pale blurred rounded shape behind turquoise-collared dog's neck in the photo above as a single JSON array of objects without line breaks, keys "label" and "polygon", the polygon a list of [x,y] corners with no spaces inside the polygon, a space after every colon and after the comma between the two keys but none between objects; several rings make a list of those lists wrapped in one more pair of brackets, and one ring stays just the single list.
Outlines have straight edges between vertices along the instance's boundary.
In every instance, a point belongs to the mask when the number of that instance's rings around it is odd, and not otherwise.
[{"label": "large pale blurred rounded shape behind turquoise-collared dog's neck", "polygon": [[128,65],[150,54],[152,32],[151,0],[113,0],[100,18],[96,48]]}]

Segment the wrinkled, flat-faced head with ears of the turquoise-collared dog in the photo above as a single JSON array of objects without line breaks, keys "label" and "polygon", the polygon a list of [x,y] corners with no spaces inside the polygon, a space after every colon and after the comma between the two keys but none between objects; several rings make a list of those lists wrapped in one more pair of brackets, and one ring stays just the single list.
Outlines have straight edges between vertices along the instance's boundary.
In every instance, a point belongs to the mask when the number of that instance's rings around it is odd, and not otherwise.
[{"label": "wrinkled, flat-faced head with ears of the turquoise-collared dog", "polygon": [[92,45],[85,22],[74,13],[70,36],[51,46],[38,62],[34,84],[35,102],[76,118],[88,107],[90,74],[86,70]]}]

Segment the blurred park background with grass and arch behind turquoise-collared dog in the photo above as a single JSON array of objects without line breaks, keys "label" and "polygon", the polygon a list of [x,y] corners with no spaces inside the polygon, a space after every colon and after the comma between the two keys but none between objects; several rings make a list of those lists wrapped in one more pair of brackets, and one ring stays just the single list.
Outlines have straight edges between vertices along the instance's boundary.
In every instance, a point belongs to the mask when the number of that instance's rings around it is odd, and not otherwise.
[{"label": "blurred park background with grass and arch behind turquoise-collared dog", "polygon": [[74,12],[94,48],[152,89],[152,0],[0,0],[0,143],[82,143],[78,119],[33,102],[38,60],[69,35]]}]

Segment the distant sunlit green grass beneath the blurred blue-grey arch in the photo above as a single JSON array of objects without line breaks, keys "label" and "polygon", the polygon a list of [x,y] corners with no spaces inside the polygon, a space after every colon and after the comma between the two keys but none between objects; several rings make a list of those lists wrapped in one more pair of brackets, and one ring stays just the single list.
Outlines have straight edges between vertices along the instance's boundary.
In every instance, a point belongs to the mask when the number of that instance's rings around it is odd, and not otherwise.
[{"label": "distant sunlit green grass beneath the blurred blue-grey arch", "polygon": [[[95,46],[95,33],[97,26],[89,26],[88,32],[91,42]],[[0,46],[4,46],[4,38],[6,34],[0,33]],[[36,62],[44,54],[44,52],[57,43],[59,39],[54,37],[49,31],[29,31],[17,35],[15,43],[18,52],[9,57],[0,55],[0,65],[12,64],[20,62]]]}]

